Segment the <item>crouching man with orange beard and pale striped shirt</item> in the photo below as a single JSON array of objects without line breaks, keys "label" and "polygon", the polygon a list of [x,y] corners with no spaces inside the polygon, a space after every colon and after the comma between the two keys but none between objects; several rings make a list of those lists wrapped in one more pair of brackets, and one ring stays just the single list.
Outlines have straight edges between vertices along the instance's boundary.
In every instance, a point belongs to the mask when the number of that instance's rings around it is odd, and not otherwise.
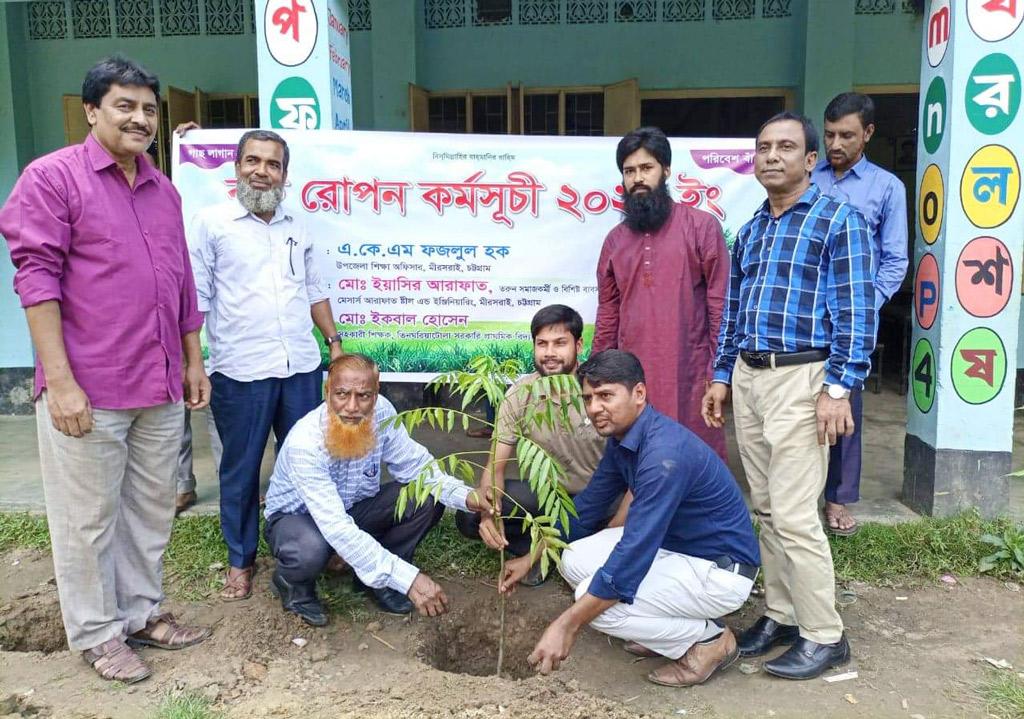
[{"label": "crouching man with orange beard and pale striped shirt", "polygon": [[[433,461],[404,427],[381,427],[395,415],[378,394],[380,372],[362,354],[342,354],[328,371],[327,400],[289,432],[266,493],[266,540],[278,560],[272,591],[284,608],[323,627],[316,578],[337,552],[380,608],[436,617],[447,611],[441,588],[412,563],[413,552],[444,506],[489,512],[458,479],[437,473],[440,503],[428,500],[395,517],[401,484]],[[381,484],[387,466],[394,481]]]}]

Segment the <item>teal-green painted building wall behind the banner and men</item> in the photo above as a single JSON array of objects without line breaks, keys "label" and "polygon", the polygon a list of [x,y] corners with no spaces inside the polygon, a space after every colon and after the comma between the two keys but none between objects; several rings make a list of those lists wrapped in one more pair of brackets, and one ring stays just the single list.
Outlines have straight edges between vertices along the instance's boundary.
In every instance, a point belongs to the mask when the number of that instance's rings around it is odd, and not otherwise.
[{"label": "teal-green painted building wall behind the banner and men", "polygon": [[[820,118],[852,84],[914,84],[921,18],[854,15],[854,0],[793,0],[784,18],[427,30],[423,0],[373,0],[372,32],[351,34],[357,129],[409,127],[408,85],[428,90],[601,85],[641,90],[792,88]],[[758,8],[762,3],[758,3]],[[96,59],[121,51],[185,90],[255,92],[252,35],[27,40],[25,3],[0,6],[0,198],[33,157],[63,144],[61,95]],[[710,12],[710,11],[709,11]],[[852,33],[852,34],[851,34]],[[32,362],[13,268],[0,254],[0,367]]]}]

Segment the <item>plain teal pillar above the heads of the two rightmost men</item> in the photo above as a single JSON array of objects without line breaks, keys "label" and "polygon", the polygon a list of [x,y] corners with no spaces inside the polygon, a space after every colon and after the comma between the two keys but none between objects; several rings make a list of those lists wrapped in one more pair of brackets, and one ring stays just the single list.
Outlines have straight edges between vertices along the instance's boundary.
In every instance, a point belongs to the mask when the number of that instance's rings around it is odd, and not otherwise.
[{"label": "plain teal pillar above the heads of the two rightmost men", "polygon": [[828,100],[853,89],[854,3],[805,0],[801,4],[807,19],[799,107],[820,133]]}]

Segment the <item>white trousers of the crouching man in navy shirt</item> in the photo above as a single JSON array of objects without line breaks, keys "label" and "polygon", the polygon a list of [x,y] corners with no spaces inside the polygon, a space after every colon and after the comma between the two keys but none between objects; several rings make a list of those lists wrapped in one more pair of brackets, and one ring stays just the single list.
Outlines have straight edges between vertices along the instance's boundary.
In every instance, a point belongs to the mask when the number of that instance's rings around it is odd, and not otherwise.
[{"label": "white trousers of the crouching man in navy shirt", "polygon": [[[623,527],[602,530],[570,544],[558,570],[575,590],[587,593],[591,578],[623,538]],[[752,580],[726,572],[707,559],[659,549],[632,604],[605,609],[591,626],[599,632],[636,641],[663,657],[677,660],[695,642],[718,633],[708,620],[742,606]]]}]

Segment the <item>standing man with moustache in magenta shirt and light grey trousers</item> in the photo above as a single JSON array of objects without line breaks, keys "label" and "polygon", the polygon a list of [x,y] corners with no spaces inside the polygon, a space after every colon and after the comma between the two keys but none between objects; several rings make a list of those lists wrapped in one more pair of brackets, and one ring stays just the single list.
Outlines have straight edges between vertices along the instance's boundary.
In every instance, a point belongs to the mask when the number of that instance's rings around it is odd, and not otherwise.
[{"label": "standing man with moustache in magenta shirt and light grey trousers", "polygon": [[[121,56],[86,75],[85,142],[30,164],[0,209],[36,350],[36,425],[68,644],[104,679],[209,630],[161,612],[183,406],[210,397],[170,181],[142,159],[160,83]],[[184,378],[184,401],[182,400]]]}]

